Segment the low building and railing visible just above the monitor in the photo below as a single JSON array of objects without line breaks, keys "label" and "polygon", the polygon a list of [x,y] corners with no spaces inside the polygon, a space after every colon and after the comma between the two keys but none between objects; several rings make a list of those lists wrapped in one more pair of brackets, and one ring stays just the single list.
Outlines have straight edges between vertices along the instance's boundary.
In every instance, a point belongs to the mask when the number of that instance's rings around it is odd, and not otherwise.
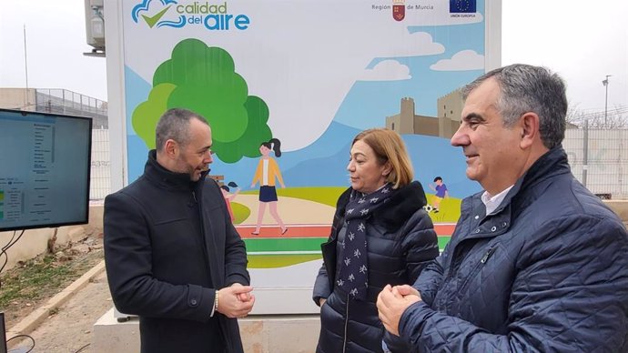
[{"label": "low building and railing visible just above the monitor", "polygon": [[94,128],[108,128],[106,102],[66,89],[0,88],[0,107],[67,116],[89,116]]}]

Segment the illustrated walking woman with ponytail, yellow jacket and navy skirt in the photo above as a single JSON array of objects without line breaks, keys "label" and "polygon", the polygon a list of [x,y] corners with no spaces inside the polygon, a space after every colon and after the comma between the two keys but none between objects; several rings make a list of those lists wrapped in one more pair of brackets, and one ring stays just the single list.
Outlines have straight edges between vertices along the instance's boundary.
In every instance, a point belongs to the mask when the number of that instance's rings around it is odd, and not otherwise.
[{"label": "illustrated walking woman with ponytail, yellow jacket and navy skirt", "polygon": [[271,138],[268,142],[262,142],[259,146],[259,158],[258,168],[253,176],[253,182],[251,188],[255,187],[259,183],[259,208],[258,208],[258,223],[255,226],[255,231],[251,234],[257,236],[259,234],[259,227],[261,227],[262,218],[264,212],[266,212],[266,206],[270,207],[270,215],[275,218],[279,227],[281,228],[281,234],[286,234],[288,227],[283,224],[279,213],[277,212],[277,190],[275,189],[275,178],[279,181],[281,187],[286,187],[283,183],[283,177],[281,177],[281,171],[279,165],[274,158],[270,155],[270,150],[275,152],[275,156],[279,158],[281,156],[281,142],[277,138]]}]

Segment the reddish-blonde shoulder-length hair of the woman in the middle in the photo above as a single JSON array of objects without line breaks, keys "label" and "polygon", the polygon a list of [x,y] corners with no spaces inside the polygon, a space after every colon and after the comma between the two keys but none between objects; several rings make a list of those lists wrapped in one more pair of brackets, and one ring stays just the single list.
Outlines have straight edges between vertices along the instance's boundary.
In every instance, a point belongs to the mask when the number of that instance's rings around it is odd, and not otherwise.
[{"label": "reddish-blonde shoulder-length hair of the woman in the middle", "polygon": [[386,181],[393,184],[393,188],[405,187],[414,178],[412,163],[401,136],[388,128],[371,128],[360,132],[351,146],[362,141],[375,152],[380,165],[390,163],[390,174]]}]

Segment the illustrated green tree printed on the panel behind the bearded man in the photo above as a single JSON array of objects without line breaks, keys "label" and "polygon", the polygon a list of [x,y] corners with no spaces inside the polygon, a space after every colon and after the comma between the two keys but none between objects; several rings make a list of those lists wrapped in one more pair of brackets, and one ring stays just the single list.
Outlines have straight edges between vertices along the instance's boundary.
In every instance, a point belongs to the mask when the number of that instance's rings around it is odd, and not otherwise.
[{"label": "illustrated green tree printed on the panel behind the bearded man", "polygon": [[244,78],[222,48],[185,39],[170,59],[157,67],[148,99],[139,104],[132,125],[148,148],[155,147],[155,127],[167,109],[183,107],[204,116],[211,126],[212,150],[225,163],[259,156],[259,144],[272,137],[268,106],[248,96]]}]

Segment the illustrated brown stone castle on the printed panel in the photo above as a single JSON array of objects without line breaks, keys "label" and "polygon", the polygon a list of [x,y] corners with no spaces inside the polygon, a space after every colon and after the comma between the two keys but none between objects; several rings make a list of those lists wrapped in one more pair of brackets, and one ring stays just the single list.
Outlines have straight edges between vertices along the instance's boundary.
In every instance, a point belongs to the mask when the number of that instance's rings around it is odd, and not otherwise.
[{"label": "illustrated brown stone castle on the printed panel", "polygon": [[400,114],[386,117],[386,127],[399,134],[451,138],[460,126],[462,97],[459,90],[438,99],[438,117],[415,114],[414,99],[401,98]]}]

